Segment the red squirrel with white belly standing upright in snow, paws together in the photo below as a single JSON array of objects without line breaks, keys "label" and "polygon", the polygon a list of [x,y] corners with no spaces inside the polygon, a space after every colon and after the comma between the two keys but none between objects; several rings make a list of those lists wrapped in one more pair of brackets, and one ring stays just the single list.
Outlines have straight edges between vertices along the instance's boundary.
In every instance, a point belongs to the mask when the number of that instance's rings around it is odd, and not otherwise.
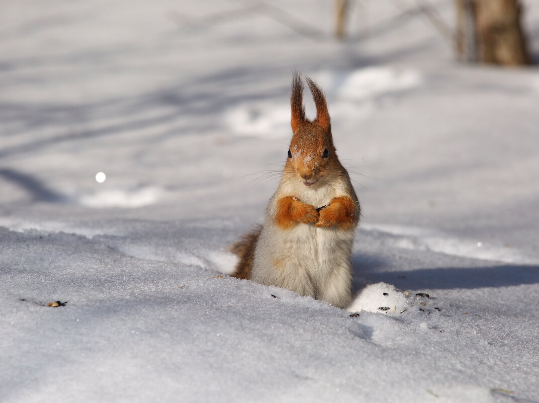
[{"label": "red squirrel with white belly standing upright in snow, paws together", "polygon": [[337,158],[326,97],[306,77],[316,119],[305,117],[300,73],[292,76],[292,140],[264,223],[232,246],[232,276],[276,285],[345,308],[351,299],[350,254],[360,202]]}]

